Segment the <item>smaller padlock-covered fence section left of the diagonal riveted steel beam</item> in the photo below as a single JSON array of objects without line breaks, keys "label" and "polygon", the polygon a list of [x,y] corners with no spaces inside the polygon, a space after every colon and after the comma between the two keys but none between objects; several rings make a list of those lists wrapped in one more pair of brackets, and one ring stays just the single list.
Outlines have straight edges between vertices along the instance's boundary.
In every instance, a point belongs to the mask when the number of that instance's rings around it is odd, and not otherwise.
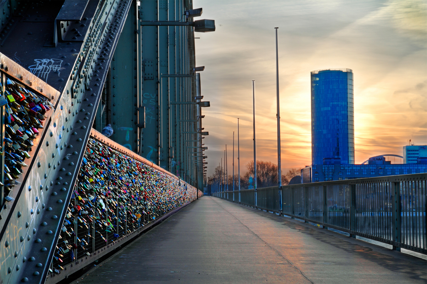
[{"label": "smaller padlock-covered fence section left of the diagonal riveted steel beam", "polygon": [[6,77],[6,86],[1,86],[4,95],[0,95],[0,106],[5,106],[4,115],[4,197],[11,201],[9,192],[19,182],[26,158],[30,158],[33,141],[43,128],[44,115],[53,105],[15,80]]}]

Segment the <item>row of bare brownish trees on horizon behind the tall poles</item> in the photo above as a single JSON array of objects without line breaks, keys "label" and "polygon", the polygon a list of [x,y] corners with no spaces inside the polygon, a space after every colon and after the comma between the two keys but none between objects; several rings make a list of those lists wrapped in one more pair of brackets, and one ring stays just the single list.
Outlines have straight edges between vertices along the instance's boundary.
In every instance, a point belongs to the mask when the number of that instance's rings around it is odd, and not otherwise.
[{"label": "row of bare brownish trees on horizon behind the tall poles", "polygon": [[[254,161],[250,161],[246,164],[247,172],[244,175],[240,175],[240,188],[246,189],[249,186],[249,176],[254,178]],[[231,175],[230,175],[231,172]],[[232,190],[233,189],[233,169],[228,169],[228,177],[225,177],[225,168],[221,166],[217,166],[215,168],[215,172],[213,175],[208,177],[208,184],[217,184],[221,181],[222,184],[225,184],[225,188]],[[240,173],[242,173],[242,169],[240,169]],[[286,174],[282,175],[282,185],[289,184],[289,181],[297,176],[301,175],[301,169],[292,168]],[[266,161],[257,161],[257,187],[268,187],[275,186],[278,184],[278,170],[277,165],[272,162]],[[254,182],[252,182],[254,185]],[[234,188],[238,189],[239,187],[238,175],[237,175],[237,167],[234,169]]]}]

